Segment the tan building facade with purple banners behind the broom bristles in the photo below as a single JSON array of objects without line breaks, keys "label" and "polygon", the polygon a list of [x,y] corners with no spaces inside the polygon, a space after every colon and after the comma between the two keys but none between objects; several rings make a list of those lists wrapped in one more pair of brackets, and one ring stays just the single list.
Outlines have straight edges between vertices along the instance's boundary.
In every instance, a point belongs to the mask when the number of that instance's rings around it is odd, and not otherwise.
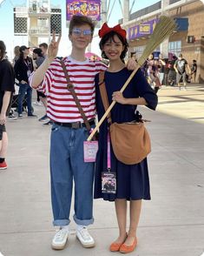
[{"label": "tan building facade with purple banners behind the broom bristles", "polygon": [[189,65],[195,59],[198,64],[196,80],[203,83],[204,4],[199,0],[162,0],[131,14],[129,21],[123,24],[128,30],[130,51],[136,51],[137,56],[141,56],[162,14],[173,17],[177,29],[155,51],[160,51],[164,57],[182,53]]}]

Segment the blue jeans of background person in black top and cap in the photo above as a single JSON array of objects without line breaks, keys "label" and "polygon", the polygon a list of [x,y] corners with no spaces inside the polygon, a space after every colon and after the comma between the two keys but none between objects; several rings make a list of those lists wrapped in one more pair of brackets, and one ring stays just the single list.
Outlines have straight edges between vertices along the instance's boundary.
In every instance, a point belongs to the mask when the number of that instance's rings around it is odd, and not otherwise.
[{"label": "blue jeans of background person in black top and cap", "polygon": [[23,111],[23,99],[25,98],[25,93],[27,93],[27,106],[28,106],[28,116],[32,115],[32,88],[29,84],[19,84],[18,92],[18,115],[22,114]]}]

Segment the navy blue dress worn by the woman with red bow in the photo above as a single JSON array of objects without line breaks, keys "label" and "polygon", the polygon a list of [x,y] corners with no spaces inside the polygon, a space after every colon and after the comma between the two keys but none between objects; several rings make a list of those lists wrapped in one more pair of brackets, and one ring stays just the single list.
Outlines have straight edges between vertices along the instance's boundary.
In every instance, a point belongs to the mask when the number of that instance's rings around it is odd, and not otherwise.
[{"label": "navy blue dress worn by the woman with red bow", "polygon": [[[105,84],[109,98],[109,104],[112,102],[112,94],[114,91],[120,91],[122,85],[125,84],[131,71],[127,68],[118,72],[105,71]],[[99,75],[95,77],[95,97],[96,110],[99,120],[104,114],[102,98],[98,85]],[[147,107],[155,110],[158,98],[155,91],[152,90],[141,70],[137,71],[135,77],[132,78],[128,87],[123,91],[124,98],[143,97],[147,101]],[[136,105],[116,103],[111,110],[112,122],[123,123],[135,120]],[[141,113],[142,114],[142,113]],[[113,201],[115,199],[150,199],[149,179],[148,179],[148,162],[147,158],[136,165],[122,164],[113,152],[110,144],[111,172],[116,172],[116,193],[102,193],[102,172],[107,172],[107,135],[108,135],[107,119],[103,121],[99,132],[99,150],[96,155],[95,162],[95,199],[105,199]]]}]

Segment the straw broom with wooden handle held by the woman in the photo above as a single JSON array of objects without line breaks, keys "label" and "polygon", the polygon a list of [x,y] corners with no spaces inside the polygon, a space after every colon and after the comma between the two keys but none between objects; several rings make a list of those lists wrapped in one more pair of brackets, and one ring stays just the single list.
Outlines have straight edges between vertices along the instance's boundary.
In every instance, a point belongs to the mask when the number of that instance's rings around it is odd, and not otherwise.
[{"label": "straw broom with wooden handle held by the woman", "polygon": [[[172,18],[166,17],[166,16],[161,16],[160,17],[159,23],[155,25],[155,30],[153,31],[153,34],[151,35],[151,37],[148,40],[148,45],[146,46],[146,48],[143,51],[140,59],[138,60],[137,68],[135,69],[135,71],[133,71],[131,73],[131,75],[128,77],[128,80],[125,82],[125,84],[123,84],[121,92],[123,92],[125,90],[125,88],[129,84],[130,80],[135,76],[136,71],[139,70],[141,65],[148,58],[148,56],[156,49],[157,46],[159,46],[164,41],[164,39],[166,39],[167,37],[172,35],[175,29],[176,29],[176,24],[174,23],[174,20]],[[94,137],[95,132],[98,130],[100,125],[102,125],[102,122],[104,121],[104,119],[109,115],[109,111],[111,111],[111,109],[113,108],[115,103],[116,102],[114,100],[109,105],[108,110],[104,113],[101,120],[95,126],[95,129],[89,135],[89,138],[87,139],[88,141],[90,141]]]}]

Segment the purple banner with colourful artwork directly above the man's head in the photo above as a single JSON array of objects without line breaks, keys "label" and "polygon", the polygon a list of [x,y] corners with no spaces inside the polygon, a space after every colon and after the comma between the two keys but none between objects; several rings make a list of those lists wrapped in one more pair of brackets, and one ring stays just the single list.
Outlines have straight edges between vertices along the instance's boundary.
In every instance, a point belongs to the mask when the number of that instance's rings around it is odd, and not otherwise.
[{"label": "purple banner with colourful artwork directly above the man's head", "polygon": [[66,19],[69,21],[73,15],[84,15],[93,21],[101,20],[101,0],[66,0]]}]

